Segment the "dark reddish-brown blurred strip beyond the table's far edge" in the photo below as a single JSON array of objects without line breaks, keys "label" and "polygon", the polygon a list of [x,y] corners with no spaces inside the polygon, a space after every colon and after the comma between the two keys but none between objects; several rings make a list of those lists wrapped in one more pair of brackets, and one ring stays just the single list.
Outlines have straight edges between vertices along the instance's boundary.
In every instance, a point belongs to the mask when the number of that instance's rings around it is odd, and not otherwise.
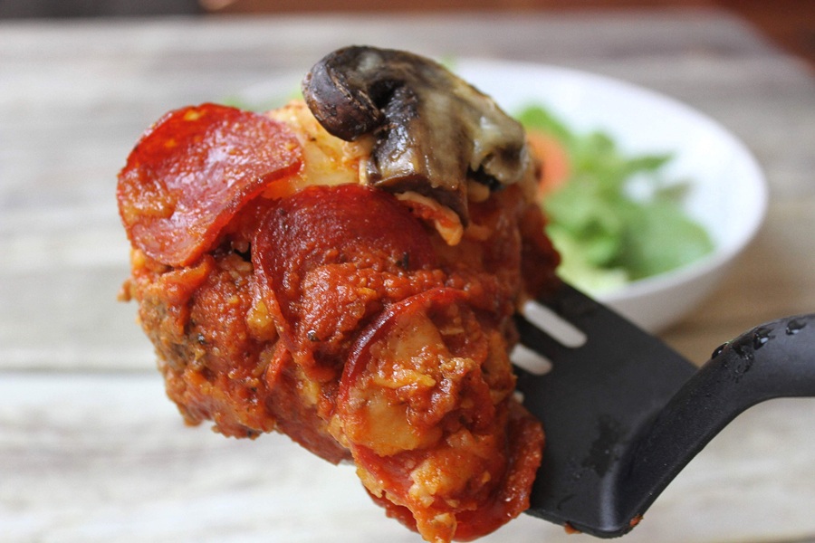
[{"label": "dark reddish-brown blurred strip beyond the table's far edge", "polygon": [[724,9],[815,67],[815,0],[0,0],[0,18],[464,10],[562,12],[649,7]]}]

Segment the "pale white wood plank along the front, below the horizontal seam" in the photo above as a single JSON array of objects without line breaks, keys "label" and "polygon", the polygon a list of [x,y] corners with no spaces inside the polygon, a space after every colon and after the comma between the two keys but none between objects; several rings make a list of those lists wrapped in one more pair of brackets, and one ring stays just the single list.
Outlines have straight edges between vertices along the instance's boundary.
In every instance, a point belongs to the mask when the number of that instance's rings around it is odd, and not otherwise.
[{"label": "pale white wood plank along the front, below the horizontal seam", "polygon": [[[753,408],[682,472],[625,540],[815,538],[815,400]],[[0,374],[3,540],[93,543],[420,539],[352,467],[288,438],[183,426],[158,376]],[[484,542],[594,540],[523,516]]]}]

